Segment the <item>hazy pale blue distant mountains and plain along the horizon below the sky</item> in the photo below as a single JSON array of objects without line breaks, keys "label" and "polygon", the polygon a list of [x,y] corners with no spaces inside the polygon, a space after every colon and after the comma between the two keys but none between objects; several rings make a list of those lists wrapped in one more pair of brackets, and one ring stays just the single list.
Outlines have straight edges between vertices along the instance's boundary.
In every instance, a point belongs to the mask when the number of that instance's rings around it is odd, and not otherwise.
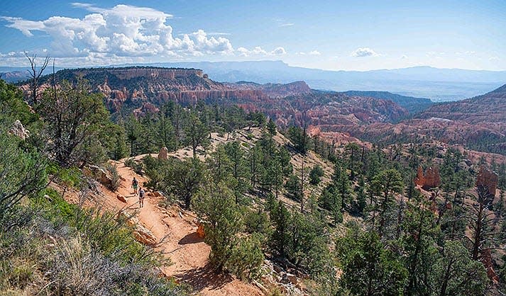
[{"label": "hazy pale blue distant mountains and plain along the horizon below the sky", "polygon": [[[202,69],[214,81],[253,81],[259,84],[287,84],[305,81],[312,89],[327,91],[389,91],[402,96],[430,98],[432,101],[458,101],[478,96],[505,84],[506,71],[476,71],[465,69],[438,69],[411,67],[372,71],[327,71],[291,67],[281,61],[255,62],[175,62],[135,64],[155,67],[182,67]],[[133,66],[115,65],[114,67]],[[26,68],[25,68],[26,69]],[[0,67],[1,72],[15,72],[8,81],[19,81],[23,68]],[[52,70],[52,69],[51,69]],[[49,71],[46,72],[50,73]]]}]

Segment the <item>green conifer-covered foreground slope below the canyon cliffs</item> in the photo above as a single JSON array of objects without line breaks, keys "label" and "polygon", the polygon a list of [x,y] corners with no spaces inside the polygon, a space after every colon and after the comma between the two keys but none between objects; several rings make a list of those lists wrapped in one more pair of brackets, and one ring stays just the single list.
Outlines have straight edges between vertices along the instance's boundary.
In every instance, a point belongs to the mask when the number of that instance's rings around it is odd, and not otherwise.
[{"label": "green conifer-covered foreground slope below the canyon cliffs", "polygon": [[[265,294],[504,290],[500,157],[473,159],[440,142],[325,142],[309,137],[304,120],[280,129],[261,112],[203,101],[167,101],[111,121],[85,81],[48,89],[29,106],[14,86],[0,86],[0,239],[12,246],[1,249],[3,291],[212,295],[229,283]],[[130,212],[138,223],[107,208],[123,199],[135,207],[132,176],[158,195]],[[209,261],[176,272],[190,258],[180,254],[170,267],[163,258],[178,252],[157,251],[171,227],[194,235],[191,215]],[[185,236],[177,245],[191,249]],[[111,273],[99,273],[103,266]]]}]

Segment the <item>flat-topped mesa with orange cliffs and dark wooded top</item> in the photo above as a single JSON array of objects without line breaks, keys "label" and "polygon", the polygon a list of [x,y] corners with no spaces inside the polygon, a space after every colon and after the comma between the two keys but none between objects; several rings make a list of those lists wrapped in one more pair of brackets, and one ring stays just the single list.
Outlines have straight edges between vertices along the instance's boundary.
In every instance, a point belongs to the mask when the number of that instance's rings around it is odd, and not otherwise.
[{"label": "flat-topped mesa with orange cliffs and dark wooded top", "polygon": [[[198,101],[246,100],[262,101],[268,95],[259,86],[239,87],[236,84],[221,84],[212,81],[201,69],[126,67],[126,68],[92,68],[65,69],[57,72],[57,81],[76,81],[78,77],[87,79],[93,91],[104,94],[104,103],[111,113],[124,106],[133,107],[136,113],[156,110],[167,101],[175,101],[183,105]],[[46,80],[40,89],[50,86]],[[304,86],[309,89],[307,84]],[[277,85],[270,85],[270,93],[277,91]],[[28,95],[28,85],[21,86]],[[297,84],[278,91],[296,91]],[[310,91],[310,89],[309,89]]]}]

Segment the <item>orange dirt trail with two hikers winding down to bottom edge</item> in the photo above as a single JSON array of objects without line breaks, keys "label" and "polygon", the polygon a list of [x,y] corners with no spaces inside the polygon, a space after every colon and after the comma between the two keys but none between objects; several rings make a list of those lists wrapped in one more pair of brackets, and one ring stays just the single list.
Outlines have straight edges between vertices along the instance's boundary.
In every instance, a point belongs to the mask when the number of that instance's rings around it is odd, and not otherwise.
[{"label": "orange dirt trail with two hikers winding down to bottom edge", "polygon": [[[128,207],[127,212],[136,213],[138,223],[147,228],[161,241],[157,249],[163,251],[173,263],[163,266],[162,272],[168,277],[175,277],[178,281],[188,283],[198,295],[263,295],[255,285],[244,283],[230,275],[218,275],[208,265],[211,248],[197,237],[197,225],[194,224],[194,214],[181,210],[179,207],[165,209],[158,204],[163,197],[147,196],[144,207],[139,207],[138,196],[131,188],[135,176],[140,186],[146,179],[125,166],[124,159],[111,161],[116,164],[119,174],[124,181],[116,193],[101,186],[104,193],[104,204],[110,210],[119,211]],[[127,203],[121,202],[116,196],[123,195]]]}]

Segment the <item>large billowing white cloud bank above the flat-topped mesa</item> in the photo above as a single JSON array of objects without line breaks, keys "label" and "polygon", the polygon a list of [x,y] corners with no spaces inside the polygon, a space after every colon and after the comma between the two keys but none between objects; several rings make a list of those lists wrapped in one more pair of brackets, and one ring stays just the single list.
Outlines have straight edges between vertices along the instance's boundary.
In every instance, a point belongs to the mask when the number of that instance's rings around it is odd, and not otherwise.
[{"label": "large billowing white cloud bank above the flat-topped mesa", "polygon": [[[153,8],[116,5],[99,8],[92,4],[74,3],[90,13],[84,18],[51,16],[44,21],[30,21],[9,16],[1,17],[9,28],[30,37],[33,32],[47,33],[53,38],[53,56],[148,57],[231,55],[233,46],[223,33],[207,34],[204,30],[172,35],[167,20],[172,15]],[[215,37],[216,36],[216,37]]]}]

